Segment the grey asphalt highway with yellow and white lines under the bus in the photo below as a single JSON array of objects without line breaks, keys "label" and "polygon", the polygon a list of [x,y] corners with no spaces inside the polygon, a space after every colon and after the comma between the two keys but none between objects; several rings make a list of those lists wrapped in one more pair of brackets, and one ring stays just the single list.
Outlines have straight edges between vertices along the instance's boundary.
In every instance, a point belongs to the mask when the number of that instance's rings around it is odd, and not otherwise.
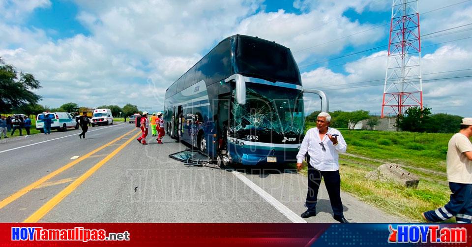
[{"label": "grey asphalt highway with yellow and white lines under the bus", "polygon": [[[166,136],[136,141],[129,123],[1,139],[1,222],[337,222],[326,189],[305,211],[307,179],[290,169],[188,166]],[[342,171],[341,171],[342,172]],[[352,222],[404,222],[341,194]]]}]

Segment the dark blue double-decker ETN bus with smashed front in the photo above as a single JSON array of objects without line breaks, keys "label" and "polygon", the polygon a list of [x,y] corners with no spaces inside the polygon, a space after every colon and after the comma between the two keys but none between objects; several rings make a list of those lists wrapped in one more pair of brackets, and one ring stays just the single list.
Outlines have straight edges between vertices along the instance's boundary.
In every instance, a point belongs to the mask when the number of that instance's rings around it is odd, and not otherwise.
[{"label": "dark blue double-decker ETN bus with smashed front", "polygon": [[221,164],[291,163],[304,135],[303,89],[290,49],[233,35],[166,91],[166,132]]}]

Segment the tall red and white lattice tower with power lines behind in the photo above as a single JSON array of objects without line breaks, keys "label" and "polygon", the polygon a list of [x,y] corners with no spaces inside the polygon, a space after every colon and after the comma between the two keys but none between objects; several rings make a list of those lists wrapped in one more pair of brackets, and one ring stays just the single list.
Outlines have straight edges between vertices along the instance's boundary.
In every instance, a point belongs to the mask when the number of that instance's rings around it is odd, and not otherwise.
[{"label": "tall red and white lattice tower with power lines behind", "polygon": [[418,0],[393,0],[382,118],[423,109]]}]

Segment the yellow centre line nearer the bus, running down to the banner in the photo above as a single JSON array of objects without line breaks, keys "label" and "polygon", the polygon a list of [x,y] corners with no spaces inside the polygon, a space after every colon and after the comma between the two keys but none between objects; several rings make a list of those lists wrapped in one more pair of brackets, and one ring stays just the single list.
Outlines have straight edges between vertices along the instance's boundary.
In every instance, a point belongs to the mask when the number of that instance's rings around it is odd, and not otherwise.
[{"label": "yellow centre line nearer the bus, running down to the banner", "polygon": [[130,139],[128,139],[125,143],[121,144],[116,150],[114,150],[111,154],[108,154],[105,158],[100,160],[96,163],[92,168],[90,168],[86,173],[80,176],[77,180],[72,182],[72,184],[65,187],[62,191],[60,191],[56,196],[54,196],[51,200],[49,200],[46,204],[44,204],[41,208],[39,208],[36,212],[34,212],[31,216],[29,216],[24,223],[35,223],[38,222],[42,217],[44,217],[49,211],[51,211],[59,202],[62,201],[66,196],[68,196],[74,189],[76,189],[79,185],[81,185],[84,181],[86,181],[93,173],[95,173],[102,165],[104,165],[108,160],[110,160],[113,156],[118,154],[128,143],[134,140],[138,135],[141,135],[141,132],[136,133]]}]

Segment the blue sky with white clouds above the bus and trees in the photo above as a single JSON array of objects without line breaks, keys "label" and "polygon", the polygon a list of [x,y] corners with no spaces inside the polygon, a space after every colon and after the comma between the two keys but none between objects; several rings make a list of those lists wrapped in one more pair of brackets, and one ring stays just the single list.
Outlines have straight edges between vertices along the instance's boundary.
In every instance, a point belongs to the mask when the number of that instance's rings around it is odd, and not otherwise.
[{"label": "blue sky with white clouds above the bus and trees", "polygon": [[[241,33],[291,48],[304,86],[325,90],[330,110],[380,114],[391,4],[3,0],[0,56],[41,81],[41,104],[133,103],[161,110],[174,80],[221,39]],[[468,115],[472,1],[420,0],[419,11],[422,35],[440,31],[422,37],[424,103],[433,112]],[[346,56],[351,53],[358,54]],[[441,79],[449,77],[459,78]]]}]

